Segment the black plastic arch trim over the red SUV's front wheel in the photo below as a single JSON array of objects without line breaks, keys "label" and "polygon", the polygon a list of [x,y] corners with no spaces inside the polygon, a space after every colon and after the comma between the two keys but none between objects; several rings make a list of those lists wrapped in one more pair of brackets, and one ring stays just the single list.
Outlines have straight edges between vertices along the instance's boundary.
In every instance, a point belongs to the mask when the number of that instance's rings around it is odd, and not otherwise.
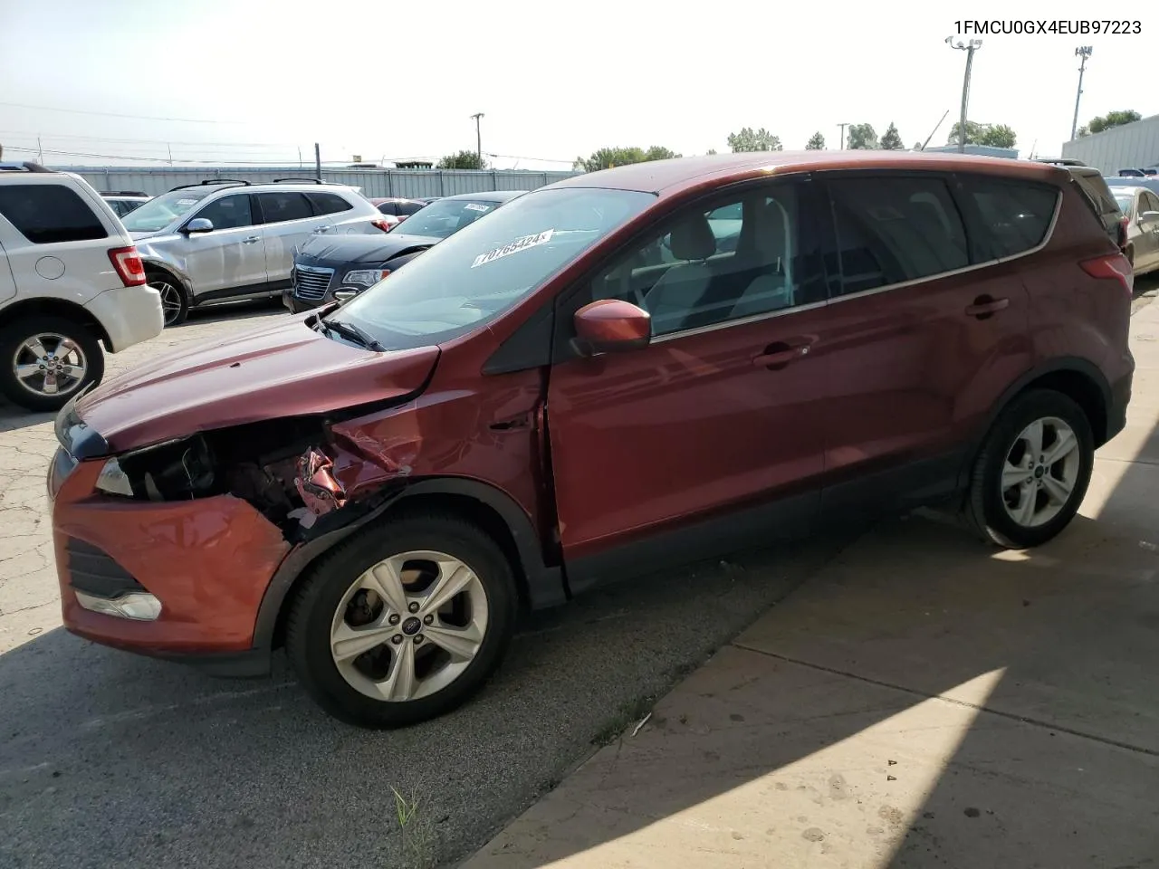
[{"label": "black plastic arch trim over the red SUV's front wheel", "polygon": [[270,651],[274,648],[282,612],[299,577],[321,555],[365,525],[404,504],[418,495],[451,495],[468,497],[494,510],[503,519],[515,541],[519,556],[518,568],[526,580],[527,604],[532,609],[544,609],[567,603],[563,571],[549,567],[544,561],[542,549],[535,527],[523,509],[506,494],[494,485],[462,477],[424,477],[407,482],[387,494],[385,499],[369,512],[360,513],[341,527],[326,531],[291,549],[274,572],[254,625],[254,649]]}]

